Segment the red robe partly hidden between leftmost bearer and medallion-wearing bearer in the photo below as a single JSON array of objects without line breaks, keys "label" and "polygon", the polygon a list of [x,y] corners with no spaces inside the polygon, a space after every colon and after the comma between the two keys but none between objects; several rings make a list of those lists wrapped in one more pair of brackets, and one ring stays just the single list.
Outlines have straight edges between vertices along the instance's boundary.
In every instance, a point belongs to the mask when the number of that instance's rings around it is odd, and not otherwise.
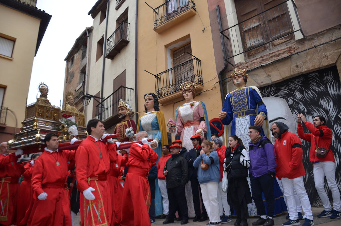
[{"label": "red robe partly hidden between leftmost bearer and medallion-wearing bearer", "polygon": [[27,224],[27,220],[31,215],[33,207],[33,189],[31,186],[33,167],[31,163],[26,163],[24,166],[23,181],[20,184],[19,202],[17,220],[18,225]]}]

